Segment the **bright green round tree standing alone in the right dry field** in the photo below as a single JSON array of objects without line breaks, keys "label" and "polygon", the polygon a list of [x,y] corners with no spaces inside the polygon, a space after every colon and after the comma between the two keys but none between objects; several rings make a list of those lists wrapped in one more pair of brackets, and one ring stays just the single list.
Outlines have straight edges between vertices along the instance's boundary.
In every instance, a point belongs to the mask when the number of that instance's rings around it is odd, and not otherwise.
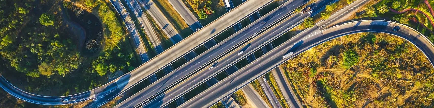
[{"label": "bright green round tree standing alone in the right dry field", "polygon": [[349,49],[347,51],[344,51],[344,62],[342,65],[349,69],[352,66],[354,66],[358,62],[358,54],[353,49]]}]

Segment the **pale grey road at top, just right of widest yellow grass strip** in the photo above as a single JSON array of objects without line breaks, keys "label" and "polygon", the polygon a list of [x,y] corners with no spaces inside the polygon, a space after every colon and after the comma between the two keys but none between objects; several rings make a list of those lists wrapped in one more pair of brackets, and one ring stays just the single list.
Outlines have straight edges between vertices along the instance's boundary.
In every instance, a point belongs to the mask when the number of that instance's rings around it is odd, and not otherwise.
[{"label": "pale grey road at top, just right of widest yellow grass strip", "polygon": [[202,28],[201,22],[197,20],[197,18],[191,13],[191,11],[185,6],[185,4],[181,0],[168,0],[169,3],[173,6],[173,8],[178,12],[182,19],[184,19],[185,22],[187,22],[188,26],[193,30],[194,32],[197,29]]}]

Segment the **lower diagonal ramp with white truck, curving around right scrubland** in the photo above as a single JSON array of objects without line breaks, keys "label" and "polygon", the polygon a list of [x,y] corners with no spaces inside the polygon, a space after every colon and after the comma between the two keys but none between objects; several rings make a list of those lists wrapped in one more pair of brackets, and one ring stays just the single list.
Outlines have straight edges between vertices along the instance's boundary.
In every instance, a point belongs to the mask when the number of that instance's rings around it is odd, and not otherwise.
[{"label": "lower diagonal ramp with white truck, curving around right scrubland", "polygon": [[[400,26],[401,29],[399,31],[392,31],[392,29],[396,26]],[[211,88],[208,88],[195,98],[188,100],[179,107],[210,107],[218,100],[221,100],[225,96],[235,92],[237,89],[246,86],[266,72],[273,70],[283,62],[297,56],[300,53],[325,41],[360,32],[383,32],[404,38],[419,48],[427,56],[431,64],[433,64],[434,45],[419,32],[405,25],[388,21],[365,20],[345,23],[335,26],[331,29],[325,29],[323,31],[320,31],[318,26],[315,26],[279,45],[272,51],[248,64],[246,67],[243,67],[236,73],[228,76]],[[291,51],[294,52],[293,55],[287,57],[286,59],[282,59],[283,55]],[[210,98],[215,99],[212,100]]]}]

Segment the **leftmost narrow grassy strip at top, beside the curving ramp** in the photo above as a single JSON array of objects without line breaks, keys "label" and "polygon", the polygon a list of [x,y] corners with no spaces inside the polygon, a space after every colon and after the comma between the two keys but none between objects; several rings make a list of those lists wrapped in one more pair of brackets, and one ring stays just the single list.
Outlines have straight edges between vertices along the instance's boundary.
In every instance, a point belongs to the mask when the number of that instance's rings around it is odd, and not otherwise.
[{"label": "leftmost narrow grassy strip at top, beside the curving ramp", "polygon": [[128,4],[125,3],[124,0],[121,0],[121,3],[125,6],[125,10],[127,10],[127,12],[130,14],[131,20],[134,22],[137,32],[139,33],[140,38],[145,45],[146,54],[148,54],[149,58],[155,57],[157,55],[157,52],[154,50],[154,45],[152,45],[149,37],[145,33],[145,30],[140,27],[140,22],[138,21],[137,17],[130,8],[127,8]]}]

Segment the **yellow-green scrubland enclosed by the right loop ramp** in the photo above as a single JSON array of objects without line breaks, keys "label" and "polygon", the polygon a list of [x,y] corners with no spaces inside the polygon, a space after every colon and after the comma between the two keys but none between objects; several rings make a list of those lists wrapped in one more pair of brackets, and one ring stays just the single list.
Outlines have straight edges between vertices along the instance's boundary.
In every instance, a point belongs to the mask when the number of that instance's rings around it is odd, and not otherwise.
[{"label": "yellow-green scrubland enclosed by the right loop ramp", "polygon": [[283,67],[306,107],[434,106],[431,63],[414,45],[393,35],[343,36],[300,54]]}]

